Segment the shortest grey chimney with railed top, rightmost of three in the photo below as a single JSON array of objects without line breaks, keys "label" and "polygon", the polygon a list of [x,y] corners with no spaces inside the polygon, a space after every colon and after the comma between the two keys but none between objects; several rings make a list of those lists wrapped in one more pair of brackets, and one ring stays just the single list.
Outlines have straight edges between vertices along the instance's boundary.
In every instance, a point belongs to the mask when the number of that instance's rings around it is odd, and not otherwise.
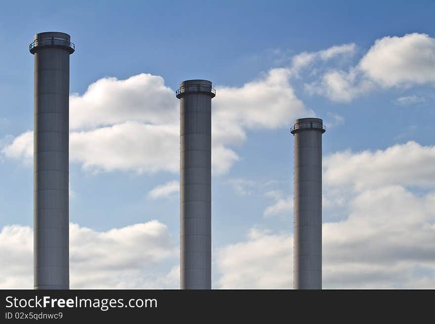
[{"label": "shortest grey chimney with railed top, rightmost of three", "polygon": [[293,288],[322,289],[322,134],[320,118],[296,119]]}]

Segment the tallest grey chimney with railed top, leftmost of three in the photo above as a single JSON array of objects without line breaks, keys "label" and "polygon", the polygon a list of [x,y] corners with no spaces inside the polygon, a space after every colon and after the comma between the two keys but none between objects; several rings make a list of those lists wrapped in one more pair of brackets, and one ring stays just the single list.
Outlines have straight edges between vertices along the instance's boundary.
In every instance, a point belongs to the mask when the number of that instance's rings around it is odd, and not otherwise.
[{"label": "tallest grey chimney with railed top, leftmost of three", "polygon": [[69,83],[74,44],[35,35],[34,287],[69,288]]}]

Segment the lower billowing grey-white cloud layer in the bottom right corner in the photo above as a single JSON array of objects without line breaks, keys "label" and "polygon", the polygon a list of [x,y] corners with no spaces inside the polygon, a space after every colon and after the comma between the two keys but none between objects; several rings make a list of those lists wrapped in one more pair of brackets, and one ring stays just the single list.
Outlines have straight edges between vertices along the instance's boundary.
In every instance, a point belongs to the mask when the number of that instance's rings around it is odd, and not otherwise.
[{"label": "lower billowing grey-white cloud layer in the bottom right corner", "polygon": [[323,225],[324,286],[435,288],[434,202],[391,185],[353,197],[346,220]]}]

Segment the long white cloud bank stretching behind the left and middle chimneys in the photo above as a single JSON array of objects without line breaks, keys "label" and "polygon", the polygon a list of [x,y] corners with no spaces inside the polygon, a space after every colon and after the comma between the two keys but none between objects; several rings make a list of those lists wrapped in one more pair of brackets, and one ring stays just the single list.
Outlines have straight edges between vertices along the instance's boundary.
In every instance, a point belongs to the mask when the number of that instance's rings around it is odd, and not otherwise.
[{"label": "long white cloud bank stretching behind the left and middle chimneys", "polygon": [[[272,69],[241,87],[217,86],[213,99],[212,168],[226,173],[240,157],[234,147],[250,129],[275,129],[307,112],[288,82]],[[178,172],[179,103],[160,76],[106,77],[70,96],[71,160],[91,171]],[[33,156],[33,133],[8,138],[8,158]]]}]

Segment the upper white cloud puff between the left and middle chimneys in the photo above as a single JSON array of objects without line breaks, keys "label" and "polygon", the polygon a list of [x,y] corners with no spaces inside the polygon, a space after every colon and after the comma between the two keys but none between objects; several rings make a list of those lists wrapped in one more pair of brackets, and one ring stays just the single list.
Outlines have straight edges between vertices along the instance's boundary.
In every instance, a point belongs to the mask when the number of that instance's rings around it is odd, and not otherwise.
[{"label": "upper white cloud puff between the left and middle chimneys", "polygon": [[161,76],[105,77],[89,85],[83,95],[70,96],[70,127],[83,130],[128,121],[174,123],[179,119],[178,106],[174,91]]}]

